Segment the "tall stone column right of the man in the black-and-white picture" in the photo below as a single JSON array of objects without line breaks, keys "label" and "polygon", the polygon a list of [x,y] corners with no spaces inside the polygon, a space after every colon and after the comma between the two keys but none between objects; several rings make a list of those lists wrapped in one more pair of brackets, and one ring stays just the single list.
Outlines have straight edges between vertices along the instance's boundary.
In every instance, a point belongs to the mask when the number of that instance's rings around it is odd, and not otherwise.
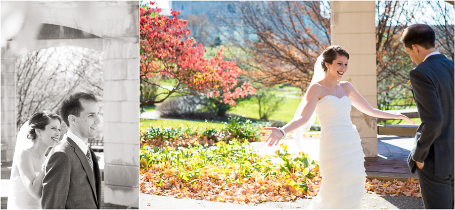
[{"label": "tall stone column right of the man in the black-and-white picture", "polygon": [[104,202],[139,207],[139,5],[115,10],[129,28],[122,21],[103,26],[112,29],[103,38]]}]

